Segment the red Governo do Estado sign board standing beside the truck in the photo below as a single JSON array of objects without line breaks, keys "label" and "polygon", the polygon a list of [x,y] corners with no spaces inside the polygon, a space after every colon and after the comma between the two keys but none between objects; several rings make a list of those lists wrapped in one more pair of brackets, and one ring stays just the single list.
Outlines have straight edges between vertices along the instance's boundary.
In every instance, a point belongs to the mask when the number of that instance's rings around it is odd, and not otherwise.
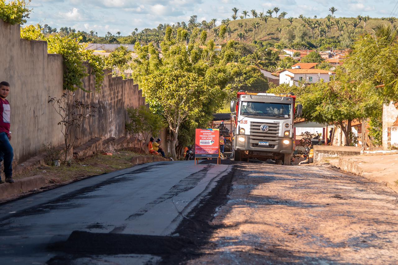
[{"label": "red Governo do Estado sign board standing beside the truck", "polygon": [[196,129],[195,158],[219,157],[219,138],[219,129]]}]

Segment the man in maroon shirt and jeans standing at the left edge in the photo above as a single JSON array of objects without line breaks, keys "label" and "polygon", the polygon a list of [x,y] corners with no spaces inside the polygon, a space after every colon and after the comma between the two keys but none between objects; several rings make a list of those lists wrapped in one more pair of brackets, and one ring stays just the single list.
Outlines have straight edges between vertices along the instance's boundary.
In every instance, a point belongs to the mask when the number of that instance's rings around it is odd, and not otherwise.
[{"label": "man in maroon shirt and jeans standing at the left edge", "polygon": [[[6,100],[8,93],[10,93],[10,84],[6,81],[0,82],[0,162],[4,160],[6,182],[13,183],[12,159],[14,158],[14,151],[10,145],[10,103]],[[0,183],[2,183],[1,178]]]}]

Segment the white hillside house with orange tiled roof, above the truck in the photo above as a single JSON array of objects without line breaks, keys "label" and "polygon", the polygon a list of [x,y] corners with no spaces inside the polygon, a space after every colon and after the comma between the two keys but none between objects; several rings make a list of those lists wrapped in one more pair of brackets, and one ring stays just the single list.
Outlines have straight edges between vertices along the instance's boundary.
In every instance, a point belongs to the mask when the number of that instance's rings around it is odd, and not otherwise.
[{"label": "white hillside house with orange tiled roof, above the truck", "polygon": [[279,74],[279,85],[289,84],[298,85],[298,82],[304,81],[305,83],[316,83],[323,79],[329,82],[334,78],[335,73],[322,69],[286,69]]}]

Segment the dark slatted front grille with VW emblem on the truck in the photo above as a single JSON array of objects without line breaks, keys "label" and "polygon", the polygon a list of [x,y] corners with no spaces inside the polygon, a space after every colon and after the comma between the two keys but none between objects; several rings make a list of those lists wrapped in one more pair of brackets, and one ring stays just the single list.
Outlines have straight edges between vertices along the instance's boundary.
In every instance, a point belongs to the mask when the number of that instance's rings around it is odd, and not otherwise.
[{"label": "dark slatted front grille with VW emblem on the truck", "polygon": [[[269,126],[268,132],[261,131],[261,125]],[[254,147],[273,148],[278,143],[279,123],[270,122],[251,122],[250,123],[250,144]],[[268,141],[267,145],[258,145],[259,141]]]}]

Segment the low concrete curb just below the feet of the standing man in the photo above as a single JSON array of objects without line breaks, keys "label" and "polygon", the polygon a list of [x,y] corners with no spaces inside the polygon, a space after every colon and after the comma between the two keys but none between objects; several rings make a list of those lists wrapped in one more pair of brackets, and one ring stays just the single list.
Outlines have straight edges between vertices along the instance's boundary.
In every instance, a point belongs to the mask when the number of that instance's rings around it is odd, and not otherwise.
[{"label": "low concrete curb just below the feet of the standing man", "polygon": [[26,191],[40,189],[46,186],[44,176],[38,175],[21,180],[15,180],[14,183],[3,183],[0,185],[0,199],[5,199]]}]

